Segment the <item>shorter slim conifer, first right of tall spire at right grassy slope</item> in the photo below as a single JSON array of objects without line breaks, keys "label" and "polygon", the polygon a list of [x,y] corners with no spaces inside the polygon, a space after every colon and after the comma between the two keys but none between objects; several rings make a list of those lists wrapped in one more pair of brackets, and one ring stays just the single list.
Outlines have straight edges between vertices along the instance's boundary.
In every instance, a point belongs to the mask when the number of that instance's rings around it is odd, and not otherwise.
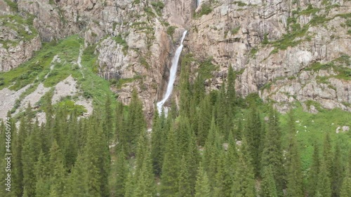
[{"label": "shorter slim conifer, first right of tall spire at right grassy slope", "polygon": [[308,173],[308,184],[307,184],[308,196],[317,195],[316,186],[319,182],[319,179],[318,179],[319,168],[320,168],[319,147],[318,147],[318,144],[316,142],[314,142],[312,165],[311,165],[310,171]]}]

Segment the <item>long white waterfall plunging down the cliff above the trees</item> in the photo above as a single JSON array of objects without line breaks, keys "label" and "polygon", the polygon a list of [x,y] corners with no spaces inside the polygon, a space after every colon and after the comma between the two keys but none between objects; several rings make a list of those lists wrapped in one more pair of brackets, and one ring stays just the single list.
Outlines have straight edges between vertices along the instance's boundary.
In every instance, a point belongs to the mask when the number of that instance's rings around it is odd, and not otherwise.
[{"label": "long white waterfall plunging down the cliff above the trees", "polygon": [[[173,56],[171,71],[169,73],[168,86],[167,86],[166,93],[164,94],[164,98],[160,102],[157,102],[157,110],[159,111],[159,114],[161,114],[164,103],[168,100],[168,97],[172,93],[174,81],[176,81],[176,76],[177,76],[176,74],[178,69],[178,61],[179,61],[180,53],[182,53],[182,50],[183,50],[183,41],[185,39],[186,34],[187,34],[187,31],[183,33],[182,39],[180,40],[180,46],[177,48],[176,54],[174,54]],[[165,110],[165,112],[167,111],[168,110]]]}]

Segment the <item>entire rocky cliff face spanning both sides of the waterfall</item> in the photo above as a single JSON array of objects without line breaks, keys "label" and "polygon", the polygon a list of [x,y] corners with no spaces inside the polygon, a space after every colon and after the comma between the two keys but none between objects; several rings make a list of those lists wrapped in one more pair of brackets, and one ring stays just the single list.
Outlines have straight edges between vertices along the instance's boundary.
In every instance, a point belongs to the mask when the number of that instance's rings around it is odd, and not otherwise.
[{"label": "entire rocky cliff face spanning both sides of the waterfall", "polygon": [[[0,5],[1,15],[9,12],[3,0]],[[18,0],[20,13],[34,15],[42,41],[84,37],[85,47],[98,54],[98,74],[115,84],[119,100],[127,104],[136,88],[149,114],[184,29],[185,51],[197,60],[213,57],[219,66],[211,79],[215,88],[233,67],[240,95],[259,93],[281,111],[296,101],[312,111],[319,104],[351,111],[350,1],[207,0],[196,6],[189,0]],[[32,53],[20,50],[28,45],[37,50],[39,37],[11,46],[16,50],[0,48],[22,60],[3,58],[3,70],[27,60]]]}]

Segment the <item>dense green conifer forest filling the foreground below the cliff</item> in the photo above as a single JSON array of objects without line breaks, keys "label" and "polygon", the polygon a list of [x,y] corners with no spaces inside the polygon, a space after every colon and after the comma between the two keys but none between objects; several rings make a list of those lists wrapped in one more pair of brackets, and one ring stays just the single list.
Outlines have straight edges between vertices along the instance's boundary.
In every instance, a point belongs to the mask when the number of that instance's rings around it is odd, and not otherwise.
[{"label": "dense green conifer forest filling the foreground below the cliff", "polygon": [[351,196],[350,133],[301,137],[298,109],[279,114],[258,95],[237,97],[232,69],[206,94],[189,68],[184,58],[179,105],[167,116],[155,109],[152,123],[136,91],[128,106],[107,97],[89,117],[53,107],[50,95],[46,123],[31,106],[17,128],[9,114],[0,153],[11,127],[11,193],[1,173],[0,196]]}]

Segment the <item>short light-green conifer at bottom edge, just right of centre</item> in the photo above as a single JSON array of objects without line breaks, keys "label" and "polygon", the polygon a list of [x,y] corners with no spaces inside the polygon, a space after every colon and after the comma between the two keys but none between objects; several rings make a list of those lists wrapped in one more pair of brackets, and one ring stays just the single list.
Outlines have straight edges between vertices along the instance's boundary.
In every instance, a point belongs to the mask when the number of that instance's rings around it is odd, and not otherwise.
[{"label": "short light-green conifer at bottom edge, just right of centre", "polygon": [[208,176],[201,163],[197,172],[197,183],[195,186],[195,197],[212,197],[211,186],[208,181]]}]

